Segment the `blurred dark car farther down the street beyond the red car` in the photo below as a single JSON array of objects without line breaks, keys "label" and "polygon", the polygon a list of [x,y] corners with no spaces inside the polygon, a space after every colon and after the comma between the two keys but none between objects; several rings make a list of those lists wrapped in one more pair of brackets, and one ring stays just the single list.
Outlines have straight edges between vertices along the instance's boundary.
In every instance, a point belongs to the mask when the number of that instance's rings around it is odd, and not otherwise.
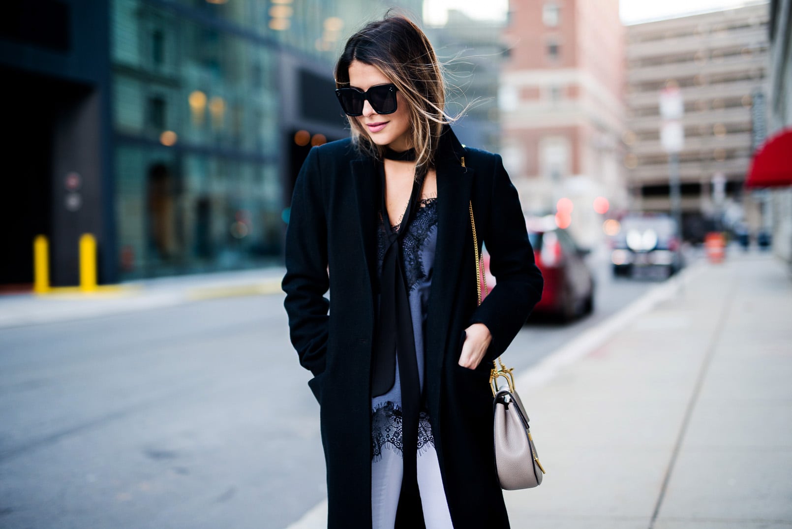
[{"label": "blurred dark car farther down the street beyond the red car", "polygon": [[683,266],[676,221],[669,215],[626,215],[611,238],[615,276],[633,276],[639,269],[660,269],[668,277]]}]

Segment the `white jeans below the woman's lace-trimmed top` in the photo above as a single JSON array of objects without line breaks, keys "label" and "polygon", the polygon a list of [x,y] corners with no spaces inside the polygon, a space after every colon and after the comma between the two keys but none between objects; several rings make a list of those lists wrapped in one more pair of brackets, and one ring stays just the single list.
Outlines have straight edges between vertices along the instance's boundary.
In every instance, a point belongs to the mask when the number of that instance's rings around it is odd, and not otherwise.
[{"label": "white jeans below the woman's lace-trimmed top", "polygon": [[[383,447],[382,459],[371,462],[371,525],[374,529],[393,529],[396,523],[404,472],[402,465],[402,456],[389,447]],[[426,529],[453,529],[435,447],[425,445],[418,453],[416,470]]]}]

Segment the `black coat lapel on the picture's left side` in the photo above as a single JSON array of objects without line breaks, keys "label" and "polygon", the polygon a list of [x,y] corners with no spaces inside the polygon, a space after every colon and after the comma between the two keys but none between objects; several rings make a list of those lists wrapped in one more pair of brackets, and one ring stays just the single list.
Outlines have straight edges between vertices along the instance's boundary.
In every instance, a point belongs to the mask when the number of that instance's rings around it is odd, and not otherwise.
[{"label": "black coat lapel on the picture's left side", "polygon": [[374,296],[379,291],[377,277],[377,211],[381,193],[379,190],[379,174],[373,158],[358,158],[351,162],[352,180],[354,181],[356,209],[360,216],[360,241],[363,242],[363,253],[366,259],[368,280],[371,283],[371,306]]}]

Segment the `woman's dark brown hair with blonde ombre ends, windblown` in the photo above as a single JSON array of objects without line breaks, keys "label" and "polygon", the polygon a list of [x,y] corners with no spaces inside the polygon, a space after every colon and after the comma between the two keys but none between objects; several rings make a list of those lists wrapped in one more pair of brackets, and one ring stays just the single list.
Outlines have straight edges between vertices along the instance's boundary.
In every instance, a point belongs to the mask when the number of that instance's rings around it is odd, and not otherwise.
[{"label": "woman's dark brown hair with blonde ombre ends, windblown", "polygon": [[[434,164],[443,125],[455,118],[444,110],[443,67],[425,33],[409,18],[388,13],[349,37],[336,64],[337,88],[349,86],[352,61],[376,67],[398,88],[409,108],[416,173],[427,171]],[[372,143],[356,118],[347,119],[357,149],[382,159],[385,147]]]}]

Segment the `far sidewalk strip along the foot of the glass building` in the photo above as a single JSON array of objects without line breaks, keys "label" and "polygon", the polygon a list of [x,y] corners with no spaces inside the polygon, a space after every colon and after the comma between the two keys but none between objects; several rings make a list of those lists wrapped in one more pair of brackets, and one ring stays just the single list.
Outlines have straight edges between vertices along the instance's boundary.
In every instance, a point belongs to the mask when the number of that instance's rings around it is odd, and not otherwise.
[{"label": "far sidewalk strip along the foot of the glass building", "polygon": [[285,268],[256,268],[131,281],[109,292],[0,296],[0,329],[173,306],[200,299],[280,294]]}]

